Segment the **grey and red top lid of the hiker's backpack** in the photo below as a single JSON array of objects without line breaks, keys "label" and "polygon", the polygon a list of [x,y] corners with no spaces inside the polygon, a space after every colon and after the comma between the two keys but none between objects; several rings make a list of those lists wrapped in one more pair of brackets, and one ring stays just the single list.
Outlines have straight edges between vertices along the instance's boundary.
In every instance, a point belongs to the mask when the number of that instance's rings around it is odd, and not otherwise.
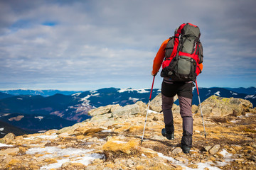
[{"label": "grey and red top lid of the hiker's backpack", "polygon": [[193,25],[192,23],[183,23],[181,26],[178,27],[178,30],[175,31],[176,33],[182,35],[194,35],[197,38],[200,38],[200,29],[198,26]]}]

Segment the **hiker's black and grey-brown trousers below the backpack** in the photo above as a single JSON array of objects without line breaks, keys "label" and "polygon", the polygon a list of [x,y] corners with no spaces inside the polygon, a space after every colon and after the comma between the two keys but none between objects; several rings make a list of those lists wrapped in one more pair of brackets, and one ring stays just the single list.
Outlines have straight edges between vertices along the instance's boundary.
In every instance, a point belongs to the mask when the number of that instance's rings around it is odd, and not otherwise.
[{"label": "hiker's black and grey-brown trousers below the backpack", "polygon": [[188,82],[165,82],[161,86],[162,110],[166,133],[174,132],[174,117],[171,108],[174,104],[174,96],[178,95],[181,118],[183,119],[183,137],[181,145],[192,146],[193,117],[192,117],[192,89],[193,83]]}]

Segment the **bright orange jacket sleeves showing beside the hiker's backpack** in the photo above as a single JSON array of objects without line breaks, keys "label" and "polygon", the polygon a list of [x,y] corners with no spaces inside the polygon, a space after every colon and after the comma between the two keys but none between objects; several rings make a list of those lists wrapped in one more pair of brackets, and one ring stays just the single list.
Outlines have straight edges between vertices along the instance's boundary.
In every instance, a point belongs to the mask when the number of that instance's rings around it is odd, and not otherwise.
[{"label": "bright orange jacket sleeves showing beside the hiker's backpack", "polygon": [[[156,57],[154,58],[154,62],[153,62],[153,70],[151,72],[152,75],[156,75],[157,72],[159,72],[161,64],[164,61],[164,57],[165,57],[164,49],[166,48],[167,42],[169,42],[169,38],[161,44],[161,47],[159,48],[159,51],[156,53]],[[201,70],[203,70],[203,64],[202,63],[199,64],[198,66]]]}]

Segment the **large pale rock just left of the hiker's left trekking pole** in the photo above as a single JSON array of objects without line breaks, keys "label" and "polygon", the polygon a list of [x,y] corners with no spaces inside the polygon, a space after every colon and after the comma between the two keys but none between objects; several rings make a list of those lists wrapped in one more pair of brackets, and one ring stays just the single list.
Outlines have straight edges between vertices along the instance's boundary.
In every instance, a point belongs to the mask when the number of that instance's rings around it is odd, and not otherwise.
[{"label": "large pale rock just left of the hiker's left trekking pole", "polygon": [[137,104],[133,105],[127,105],[122,108],[118,108],[117,110],[114,110],[113,116],[114,118],[123,118],[125,115],[127,115],[128,118],[132,117],[131,115],[138,114],[139,111],[139,106]]}]

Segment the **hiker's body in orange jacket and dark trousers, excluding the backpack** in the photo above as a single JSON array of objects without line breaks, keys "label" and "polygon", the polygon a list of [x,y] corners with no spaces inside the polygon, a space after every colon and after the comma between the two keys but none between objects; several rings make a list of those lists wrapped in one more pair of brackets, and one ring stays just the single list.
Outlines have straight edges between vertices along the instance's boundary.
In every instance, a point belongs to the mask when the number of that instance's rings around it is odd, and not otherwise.
[{"label": "hiker's body in orange jacket and dark trousers, excluding the backpack", "polygon": [[[175,35],[177,33],[177,30],[178,28],[175,31]],[[163,60],[166,57],[169,57],[169,56],[166,56],[166,45],[169,42],[169,40],[170,38],[165,40],[161,44],[161,47],[159,48],[159,51],[157,52],[156,57],[154,58],[153,70],[151,72],[153,76],[156,76],[157,72],[159,72],[159,69],[163,63]],[[202,52],[203,52],[203,49],[202,49]],[[197,57],[198,56],[199,55],[197,55]],[[203,62],[203,59],[201,62]],[[201,71],[203,69],[203,64],[198,64],[198,68]],[[168,140],[174,140],[174,118],[173,118],[171,108],[174,104],[174,96],[177,94],[179,106],[180,106],[181,118],[183,119],[183,136],[181,139],[181,148],[183,149],[184,153],[189,153],[192,147],[192,135],[193,135],[193,117],[192,117],[191,106],[192,106],[192,96],[193,96],[192,89],[194,84],[193,84],[193,81],[189,81],[189,80],[177,81],[175,79],[171,79],[170,77],[166,77],[163,75],[166,75],[166,74],[161,74],[161,77],[164,77],[163,82],[161,84],[161,96],[162,96],[162,111],[164,113],[164,124],[165,124],[165,129],[162,130],[162,134],[166,136]]]}]

